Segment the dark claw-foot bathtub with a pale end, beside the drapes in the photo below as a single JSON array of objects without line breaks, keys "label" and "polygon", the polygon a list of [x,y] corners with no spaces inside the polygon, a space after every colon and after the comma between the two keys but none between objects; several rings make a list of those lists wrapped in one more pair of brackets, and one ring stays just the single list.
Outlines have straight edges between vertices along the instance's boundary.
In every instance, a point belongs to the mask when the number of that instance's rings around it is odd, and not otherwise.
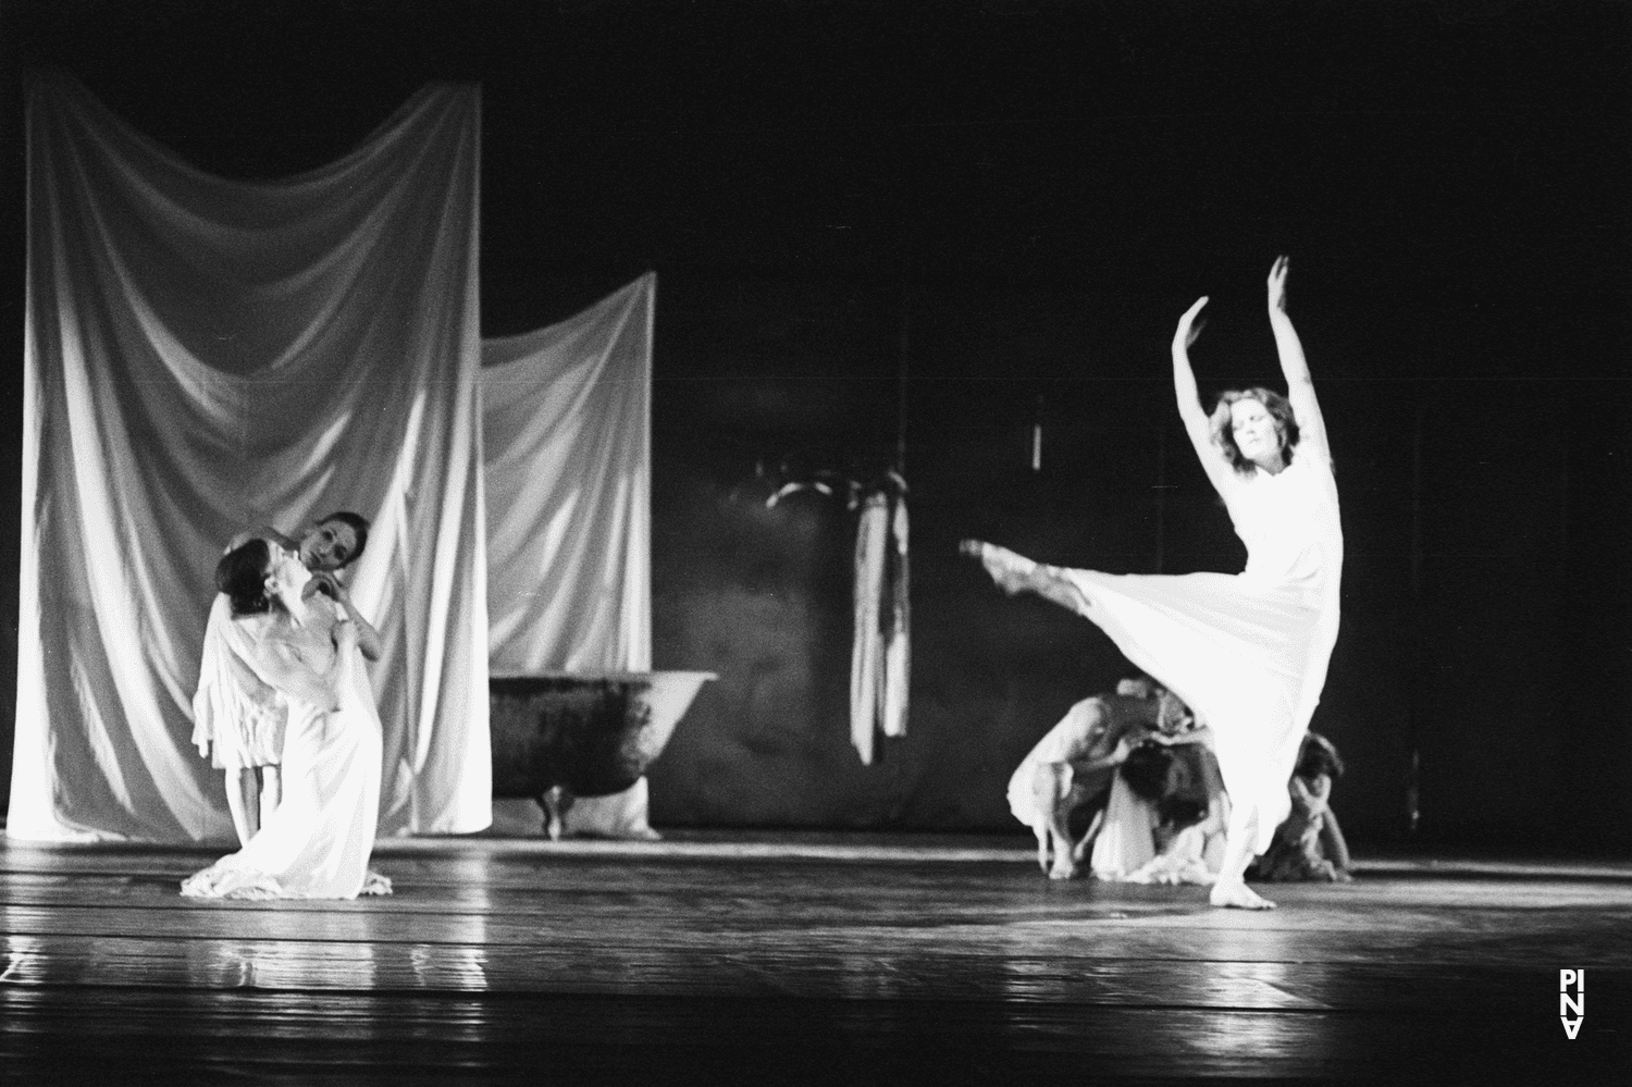
[{"label": "dark claw-foot bathtub with a pale end, beside the drapes", "polygon": [[574,796],[640,782],[713,672],[491,672],[493,796],[527,796],[550,837]]}]

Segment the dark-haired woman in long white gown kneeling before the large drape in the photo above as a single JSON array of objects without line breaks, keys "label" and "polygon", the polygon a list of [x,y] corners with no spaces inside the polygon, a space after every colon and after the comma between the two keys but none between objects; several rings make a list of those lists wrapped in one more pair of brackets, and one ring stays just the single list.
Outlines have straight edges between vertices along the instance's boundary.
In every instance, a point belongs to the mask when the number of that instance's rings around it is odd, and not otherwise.
[{"label": "dark-haired woman in long white gown kneeling before the large drape", "polygon": [[357,623],[323,594],[295,552],[253,539],[215,568],[232,623],[263,682],[289,707],[284,801],[237,854],[181,885],[193,898],[388,894],[369,872],[380,800],[380,718]]}]

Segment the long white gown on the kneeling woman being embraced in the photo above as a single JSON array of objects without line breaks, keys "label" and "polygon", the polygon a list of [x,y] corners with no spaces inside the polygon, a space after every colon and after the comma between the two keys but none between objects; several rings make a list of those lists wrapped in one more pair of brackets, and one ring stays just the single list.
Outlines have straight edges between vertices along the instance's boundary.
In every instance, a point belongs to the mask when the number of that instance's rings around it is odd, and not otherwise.
[{"label": "long white gown on the kneeling woman being embraced", "polygon": [[[310,606],[335,606],[312,597]],[[297,646],[313,671],[326,671],[335,648]],[[351,650],[357,653],[357,650]],[[356,898],[388,894],[390,881],[369,872],[380,806],[380,717],[361,653],[338,710],[289,702],[284,734],[284,796],[261,831],[235,854],[189,876],[189,898]]]}]

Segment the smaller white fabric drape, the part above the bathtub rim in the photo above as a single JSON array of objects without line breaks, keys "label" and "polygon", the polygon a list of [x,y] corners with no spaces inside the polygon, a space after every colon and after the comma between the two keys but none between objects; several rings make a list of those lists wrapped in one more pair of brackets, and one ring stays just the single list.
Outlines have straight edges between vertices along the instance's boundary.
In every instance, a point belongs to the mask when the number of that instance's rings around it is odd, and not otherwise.
[{"label": "smaller white fabric drape, the part above the bathtub rim", "polygon": [[494,672],[651,668],[656,276],[481,344]]}]

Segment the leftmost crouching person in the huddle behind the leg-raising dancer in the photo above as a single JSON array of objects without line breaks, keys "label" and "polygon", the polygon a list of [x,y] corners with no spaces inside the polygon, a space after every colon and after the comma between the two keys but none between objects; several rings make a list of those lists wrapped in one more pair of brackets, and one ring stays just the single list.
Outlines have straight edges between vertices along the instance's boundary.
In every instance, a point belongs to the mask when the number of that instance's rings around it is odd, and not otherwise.
[{"label": "leftmost crouching person in the huddle behind the leg-raising dancer", "polygon": [[[1071,707],[1009,779],[1009,810],[1036,834],[1036,862],[1051,880],[1069,880],[1105,814],[1116,767],[1146,736],[1178,731],[1185,703],[1149,679],[1124,679],[1113,695]],[[1072,844],[1069,819],[1090,823]]]}]

